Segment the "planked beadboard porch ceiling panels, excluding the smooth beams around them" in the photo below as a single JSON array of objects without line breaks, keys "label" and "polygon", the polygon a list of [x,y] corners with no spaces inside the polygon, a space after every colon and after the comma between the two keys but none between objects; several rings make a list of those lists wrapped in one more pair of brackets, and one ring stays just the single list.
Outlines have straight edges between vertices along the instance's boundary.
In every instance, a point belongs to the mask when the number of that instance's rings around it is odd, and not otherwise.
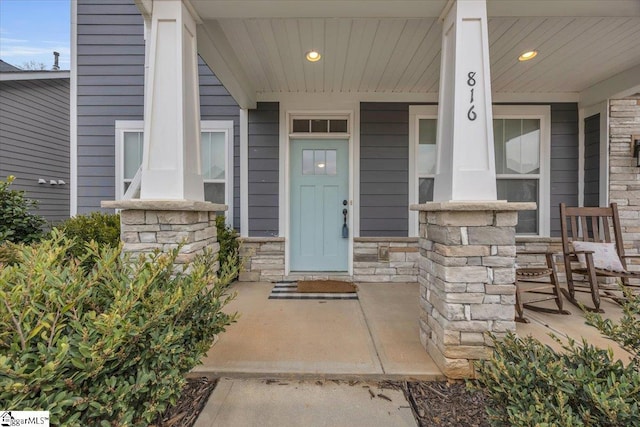
[{"label": "planked beadboard porch ceiling panels, excluding the smooth beams around them", "polygon": [[[437,18],[252,18],[216,25],[257,93],[438,91]],[[581,92],[640,64],[638,17],[498,17],[488,27],[495,92]],[[322,54],[317,63],[304,59],[312,49]],[[529,49],[539,50],[538,57],[518,62]]]}]

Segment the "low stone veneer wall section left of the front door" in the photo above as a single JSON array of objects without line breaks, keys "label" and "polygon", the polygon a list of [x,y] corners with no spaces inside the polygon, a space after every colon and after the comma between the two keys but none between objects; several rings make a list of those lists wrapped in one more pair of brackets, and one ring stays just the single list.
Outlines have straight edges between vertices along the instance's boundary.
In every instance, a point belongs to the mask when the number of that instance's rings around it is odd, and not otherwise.
[{"label": "low stone veneer wall section left of the front door", "polygon": [[277,282],[284,278],[284,238],[240,238],[241,282]]}]

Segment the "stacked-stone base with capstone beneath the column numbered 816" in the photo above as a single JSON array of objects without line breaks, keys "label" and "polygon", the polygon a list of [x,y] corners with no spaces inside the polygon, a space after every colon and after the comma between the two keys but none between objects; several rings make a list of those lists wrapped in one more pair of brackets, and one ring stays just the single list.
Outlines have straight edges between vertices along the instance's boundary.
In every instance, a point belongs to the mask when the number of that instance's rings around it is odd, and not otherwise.
[{"label": "stacked-stone base with capstone beneath the column numbered 816", "polygon": [[449,378],[474,376],[486,332],[515,330],[515,226],[535,203],[448,202],[420,211],[420,341]]}]

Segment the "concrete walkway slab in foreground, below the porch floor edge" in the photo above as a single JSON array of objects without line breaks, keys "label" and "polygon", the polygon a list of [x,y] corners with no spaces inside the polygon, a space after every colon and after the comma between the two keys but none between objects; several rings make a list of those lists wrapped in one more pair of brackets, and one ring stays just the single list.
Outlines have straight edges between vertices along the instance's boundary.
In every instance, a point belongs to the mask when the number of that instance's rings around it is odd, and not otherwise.
[{"label": "concrete walkway slab in foreground, below the porch floor edge", "polygon": [[417,427],[402,391],[346,382],[221,379],[195,427]]}]

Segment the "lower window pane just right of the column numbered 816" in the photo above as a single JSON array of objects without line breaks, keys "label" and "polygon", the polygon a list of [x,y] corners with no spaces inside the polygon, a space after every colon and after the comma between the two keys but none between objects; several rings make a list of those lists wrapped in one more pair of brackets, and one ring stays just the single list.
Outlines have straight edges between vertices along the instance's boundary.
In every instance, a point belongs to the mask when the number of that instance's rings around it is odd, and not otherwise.
[{"label": "lower window pane just right of the column numbered 816", "polygon": [[[537,179],[498,179],[498,199],[510,202],[538,202]],[[518,234],[538,234],[538,210],[519,211]]]}]

